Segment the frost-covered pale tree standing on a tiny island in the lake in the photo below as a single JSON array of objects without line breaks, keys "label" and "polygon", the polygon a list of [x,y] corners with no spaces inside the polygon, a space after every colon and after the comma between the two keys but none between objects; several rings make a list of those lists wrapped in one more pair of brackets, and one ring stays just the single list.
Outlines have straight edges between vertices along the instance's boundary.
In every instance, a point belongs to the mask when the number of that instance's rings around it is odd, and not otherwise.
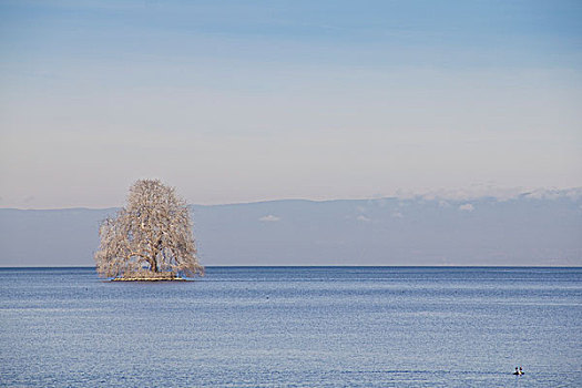
[{"label": "frost-covered pale tree standing on a tiny island in the lake", "polygon": [[127,205],[100,228],[96,270],[103,277],[175,278],[204,275],[186,203],[159,180],[130,188]]}]

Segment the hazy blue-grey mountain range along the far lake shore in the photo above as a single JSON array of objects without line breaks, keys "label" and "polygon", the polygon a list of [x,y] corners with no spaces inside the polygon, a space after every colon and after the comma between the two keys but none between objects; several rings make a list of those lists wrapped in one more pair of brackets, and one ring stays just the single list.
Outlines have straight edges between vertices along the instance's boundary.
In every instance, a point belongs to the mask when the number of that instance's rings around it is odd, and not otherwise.
[{"label": "hazy blue-grey mountain range along the far lake shore", "polygon": [[[0,208],[0,266],[90,266],[115,208]],[[582,190],[192,205],[204,265],[581,266]]]}]

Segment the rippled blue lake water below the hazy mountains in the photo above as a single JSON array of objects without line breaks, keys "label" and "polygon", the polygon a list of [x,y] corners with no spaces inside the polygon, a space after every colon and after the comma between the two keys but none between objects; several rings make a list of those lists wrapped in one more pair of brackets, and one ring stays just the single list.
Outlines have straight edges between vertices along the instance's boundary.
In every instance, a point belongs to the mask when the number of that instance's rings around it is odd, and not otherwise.
[{"label": "rippled blue lake water below the hazy mountains", "polygon": [[581,387],[582,268],[4,268],[0,336],[7,387]]}]

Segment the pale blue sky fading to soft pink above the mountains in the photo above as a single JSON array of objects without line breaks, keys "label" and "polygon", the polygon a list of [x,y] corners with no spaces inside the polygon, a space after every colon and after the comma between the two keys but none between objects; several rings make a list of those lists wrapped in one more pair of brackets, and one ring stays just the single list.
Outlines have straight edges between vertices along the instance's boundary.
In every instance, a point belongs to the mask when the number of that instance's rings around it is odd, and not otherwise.
[{"label": "pale blue sky fading to soft pink above the mountains", "polygon": [[580,1],[0,1],[0,207],[582,186]]}]

